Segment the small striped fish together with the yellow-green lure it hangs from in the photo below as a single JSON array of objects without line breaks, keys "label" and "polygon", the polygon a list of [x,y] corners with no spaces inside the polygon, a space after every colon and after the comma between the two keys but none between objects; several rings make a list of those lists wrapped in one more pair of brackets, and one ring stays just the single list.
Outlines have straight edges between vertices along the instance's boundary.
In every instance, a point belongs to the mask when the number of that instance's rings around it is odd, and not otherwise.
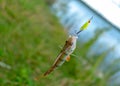
[{"label": "small striped fish together with the yellow-green lure it hangs from", "polygon": [[88,27],[92,18],[93,17],[91,17],[87,22],[85,22],[85,24],[83,24],[83,26],[76,33],[76,35],[69,36],[63,49],[61,50],[60,54],[57,56],[57,59],[55,60],[55,62],[53,63],[52,67],[47,72],[45,72],[43,76],[50,74],[53,70],[60,67],[65,61],[70,60],[70,55],[73,53],[73,51],[76,48],[76,42],[77,42],[79,33]]}]

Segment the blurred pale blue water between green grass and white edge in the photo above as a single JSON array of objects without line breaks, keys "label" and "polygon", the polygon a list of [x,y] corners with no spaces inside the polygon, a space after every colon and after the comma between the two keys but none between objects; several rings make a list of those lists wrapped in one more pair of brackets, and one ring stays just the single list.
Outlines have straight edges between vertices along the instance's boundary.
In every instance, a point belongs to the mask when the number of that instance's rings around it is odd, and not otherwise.
[{"label": "blurred pale blue water between green grass and white edge", "polygon": [[[52,10],[60,19],[61,24],[68,29],[69,34],[74,34],[91,16],[94,17],[88,29],[80,34],[79,41],[82,46],[93,39],[97,32],[101,31],[100,36],[88,50],[87,56],[89,58],[95,53],[100,54],[112,49],[112,52],[109,51],[100,66],[102,71],[107,71],[107,67],[120,58],[120,32],[83,3],[78,0],[57,0],[52,6]],[[117,67],[120,68],[120,65],[117,65]],[[117,83],[120,85],[119,71],[109,80],[116,79],[116,81],[109,82],[109,84]]]}]

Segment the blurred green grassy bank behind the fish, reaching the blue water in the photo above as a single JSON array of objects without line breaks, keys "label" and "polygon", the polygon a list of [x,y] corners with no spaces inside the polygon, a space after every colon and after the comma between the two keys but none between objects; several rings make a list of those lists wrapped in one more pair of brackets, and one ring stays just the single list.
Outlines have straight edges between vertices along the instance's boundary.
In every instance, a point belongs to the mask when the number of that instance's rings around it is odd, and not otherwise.
[{"label": "blurred green grassy bank behind the fish, reaching the blue water", "polygon": [[70,62],[41,78],[68,37],[51,13],[51,3],[0,0],[0,86],[106,86],[112,72],[103,74],[98,67],[112,49],[91,56],[99,58],[86,56],[102,30],[84,45],[77,44],[76,56],[71,56]]}]

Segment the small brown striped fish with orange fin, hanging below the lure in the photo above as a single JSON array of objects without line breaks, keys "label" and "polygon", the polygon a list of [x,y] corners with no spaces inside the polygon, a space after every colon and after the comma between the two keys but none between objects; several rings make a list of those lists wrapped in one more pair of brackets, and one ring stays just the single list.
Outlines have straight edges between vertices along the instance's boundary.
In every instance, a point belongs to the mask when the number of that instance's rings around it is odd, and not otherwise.
[{"label": "small brown striped fish with orange fin, hanging below the lure", "polygon": [[57,56],[54,64],[47,72],[44,73],[44,76],[50,74],[54,69],[61,66],[66,61],[67,57],[69,57],[73,53],[76,48],[77,38],[77,36],[70,36],[68,38],[60,54]]}]

